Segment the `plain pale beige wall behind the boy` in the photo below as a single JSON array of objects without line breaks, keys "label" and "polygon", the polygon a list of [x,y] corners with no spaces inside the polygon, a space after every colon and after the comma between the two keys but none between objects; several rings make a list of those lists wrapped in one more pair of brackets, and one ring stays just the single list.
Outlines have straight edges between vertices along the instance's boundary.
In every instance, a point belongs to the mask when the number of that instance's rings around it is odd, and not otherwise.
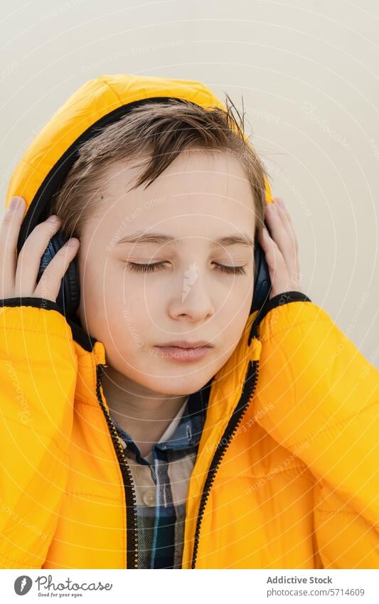
[{"label": "plain pale beige wall behind the boy", "polygon": [[238,107],[292,214],[302,290],[379,367],[379,4],[21,1],[1,6],[1,211],[50,115],[90,78],[203,81]]}]

